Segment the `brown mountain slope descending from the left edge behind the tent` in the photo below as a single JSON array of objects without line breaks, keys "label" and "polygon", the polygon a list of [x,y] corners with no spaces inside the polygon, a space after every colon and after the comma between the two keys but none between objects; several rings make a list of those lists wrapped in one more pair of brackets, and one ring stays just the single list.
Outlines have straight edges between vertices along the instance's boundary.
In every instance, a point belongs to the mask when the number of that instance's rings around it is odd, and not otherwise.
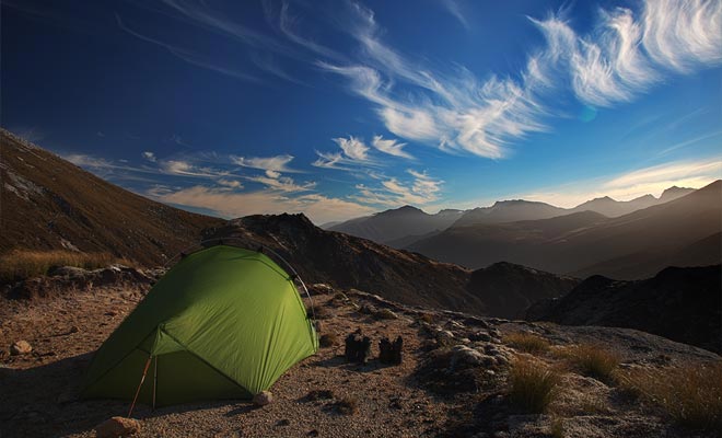
[{"label": "brown mountain slope descending from the left edge behind the tent", "polygon": [[154,203],[0,129],[0,251],[107,252],[163,264],[222,219]]}]

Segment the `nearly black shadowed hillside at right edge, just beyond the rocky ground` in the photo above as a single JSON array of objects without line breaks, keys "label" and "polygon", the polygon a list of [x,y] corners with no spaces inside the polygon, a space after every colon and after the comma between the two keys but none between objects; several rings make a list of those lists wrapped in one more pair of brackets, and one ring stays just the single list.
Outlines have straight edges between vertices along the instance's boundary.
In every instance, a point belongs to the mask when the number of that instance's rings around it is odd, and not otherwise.
[{"label": "nearly black shadowed hillside at right edge, just beyond the rocky ground", "polygon": [[593,276],[526,318],[567,325],[637,328],[722,353],[722,268],[668,267],[655,277],[619,281]]}]

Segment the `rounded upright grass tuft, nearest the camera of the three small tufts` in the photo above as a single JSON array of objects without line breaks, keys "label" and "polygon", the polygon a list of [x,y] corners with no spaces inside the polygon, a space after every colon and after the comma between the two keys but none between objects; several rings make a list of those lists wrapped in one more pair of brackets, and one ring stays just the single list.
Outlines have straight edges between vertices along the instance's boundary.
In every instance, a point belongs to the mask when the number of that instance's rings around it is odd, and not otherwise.
[{"label": "rounded upright grass tuft, nearest the camera of the three small tufts", "polygon": [[509,371],[509,401],[524,412],[542,414],[554,400],[559,380],[559,373],[546,365],[519,358]]}]

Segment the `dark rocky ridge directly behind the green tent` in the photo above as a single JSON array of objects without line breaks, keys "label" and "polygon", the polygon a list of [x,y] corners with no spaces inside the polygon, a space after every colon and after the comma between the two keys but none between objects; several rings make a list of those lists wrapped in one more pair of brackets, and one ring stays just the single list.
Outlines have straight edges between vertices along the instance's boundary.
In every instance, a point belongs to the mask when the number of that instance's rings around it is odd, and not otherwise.
[{"label": "dark rocky ridge directly behind the green tent", "polygon": [[366,239],[322,230],[303,215],[248,216],[209,230],[206,238],[226,239],[252,249],[270,247],[293,265],[304,281],[475,314],[519,315],[531,303],[559,297],[579,283],[508,263],[471,273]]}]

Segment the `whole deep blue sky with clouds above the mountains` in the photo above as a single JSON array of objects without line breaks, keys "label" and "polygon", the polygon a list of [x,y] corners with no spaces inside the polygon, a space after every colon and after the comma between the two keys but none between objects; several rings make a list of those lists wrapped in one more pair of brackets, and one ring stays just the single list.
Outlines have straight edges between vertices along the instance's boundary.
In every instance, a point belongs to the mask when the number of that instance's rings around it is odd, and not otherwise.
[{"label": "whole deep blue sky with clouds above the mountains", "polygon": [[120,186],[316,223],[722,177],[719,1],[2,1],[2,126]]}]

